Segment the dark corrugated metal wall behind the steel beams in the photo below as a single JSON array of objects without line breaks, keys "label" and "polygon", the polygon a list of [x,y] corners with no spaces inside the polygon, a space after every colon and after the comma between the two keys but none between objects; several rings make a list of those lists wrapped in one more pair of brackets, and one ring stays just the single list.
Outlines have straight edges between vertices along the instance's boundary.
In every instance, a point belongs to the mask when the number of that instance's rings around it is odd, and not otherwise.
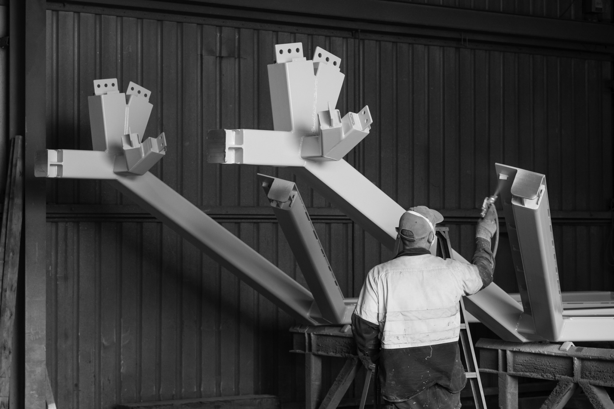
[{"label": "dark corrugated metal wall behind the steel beams", "polygon": [[[453,244],[469,257],[470,216],[494,190],[494,162],[545,173],[561,216],[562,289],[614,290],[604,263],[610,227],[591,225],[589,214],[612,198],[610,61],[308,32],[50,10],[47,147],[91,149],[93,79],[149,88],[146,136],[164,131],[169,144],[153,173],[304,284],[255,178],[293,176],[209,165],[203,140],[209,129],[272,129],[273,45],[300,41],[308,55],[319,45],[343,59],[338,109],[370,106],[375,125],[348,161],[384,192],[405,207],[456,215]],[[388,252],[300,188],[344,295],[356,296]],[[303,399],[303,359],[287,352],[285,313],[103,182],[49,181],[47,189],[55,211],[47,365],[58,407],[252,393]],[[495,281],[513,291],[505,237],[501,246]]]}]

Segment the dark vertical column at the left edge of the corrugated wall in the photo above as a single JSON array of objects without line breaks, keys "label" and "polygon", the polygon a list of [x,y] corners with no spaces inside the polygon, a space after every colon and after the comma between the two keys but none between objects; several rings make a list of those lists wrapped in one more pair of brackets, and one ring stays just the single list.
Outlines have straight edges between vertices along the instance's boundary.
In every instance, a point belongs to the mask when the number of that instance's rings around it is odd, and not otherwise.
[{"label": "dark vertical column at the left edge of the corrugated wall", "polygon": [[[11,3],[11,8],[17,2]],[[25,116],[17,117],[23,125],[17,125],[25,130],[24,155],[24,219],[25,219],[25,389],[24,407],[40,408],[45,402],[45,374],[46,374],[46,279],[47,279],[47,244],[45,243],[45,181],[35,179],[34,158],[36,150],[45,149],[46,120],[45,120],[45,45],[46,39],[46,2],[42,0],[26,0],[25,14],[17,14],[23,23],[23,31],[14,36],[17,47],[20,46],[21,33],[25,36],[23,49],[25,55],[24,65],[17,71],[25,72],[25,89],[17,85],[17,93],[25,96]],[[17,17],[15,16],[15,17]],[[28,18],[25,18],[28,16]],[[23,18],[23,20],[21,20]],[[13,43],[15,47],[15,43]],[[20,54],[17,66],[20,66]],[[12,74],[11,74],[12,75]],[[20,75],[20,74],[16,74]],[[19,77],[14,80],[20,81]],[[12,92],[12,90],[11,90]],[[23,126],[23,128],[21,128]],[[15,130],[15,129],[14,129]],[[17,134],[17,130],[15,130]],[[21,398],[21,397],[20,397]],[[19,398],[19,399],[20,399]]]}]

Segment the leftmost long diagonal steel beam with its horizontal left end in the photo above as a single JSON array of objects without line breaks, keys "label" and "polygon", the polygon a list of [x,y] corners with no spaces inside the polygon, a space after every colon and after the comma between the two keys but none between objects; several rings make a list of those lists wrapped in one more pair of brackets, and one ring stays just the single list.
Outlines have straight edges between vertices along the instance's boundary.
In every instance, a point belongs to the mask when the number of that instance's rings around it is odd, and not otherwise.
[{"label": "leftmost long diagonal steel beam with its horizontal left end", "polygon": [[[117,156],[124,160],[123,155]],[[310,325],[328,323],[311,292],[153,174],[113,173],[115,154],[102,151],[50,149],[37,152],[36,157],[36,176],[108,181],[291,316]]]}]

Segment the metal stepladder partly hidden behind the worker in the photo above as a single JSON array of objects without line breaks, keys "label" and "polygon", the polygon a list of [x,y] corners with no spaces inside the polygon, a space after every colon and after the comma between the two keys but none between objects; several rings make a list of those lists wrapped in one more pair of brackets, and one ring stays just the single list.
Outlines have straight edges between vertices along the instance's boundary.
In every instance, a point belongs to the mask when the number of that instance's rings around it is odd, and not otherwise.
[{"label": "metal stepladder partly hidden behind the worker", "polygon": [[[453,259],[452,247],[448,235],[448,227],[437,227],[437,255],[442,259]],[[461,333],[459,334],[459,346],[462,351],[462,364],[465,368],[465,376],[469,381],[469,386],[473,394],[473,403],[476,409],[486,409],[486,399],[484,398],[484,388],[480,379],[478,362],[475,358],[471,331],[465,319],[465,303],[461,297]]]}]

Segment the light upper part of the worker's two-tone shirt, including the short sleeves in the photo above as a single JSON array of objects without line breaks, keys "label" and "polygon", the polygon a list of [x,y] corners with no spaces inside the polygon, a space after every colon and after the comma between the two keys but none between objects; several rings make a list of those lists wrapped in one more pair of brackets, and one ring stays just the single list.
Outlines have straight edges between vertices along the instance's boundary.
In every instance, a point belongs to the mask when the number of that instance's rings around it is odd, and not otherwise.
[{"label": "light upper part of the worker's two-tone shirt, including the short sleeves", "polygon": [[430,254],[397,257],[369,271],[354,313],[379,324],[381,348],[457,341],[461,296],[482,286],[475,265]]}]

